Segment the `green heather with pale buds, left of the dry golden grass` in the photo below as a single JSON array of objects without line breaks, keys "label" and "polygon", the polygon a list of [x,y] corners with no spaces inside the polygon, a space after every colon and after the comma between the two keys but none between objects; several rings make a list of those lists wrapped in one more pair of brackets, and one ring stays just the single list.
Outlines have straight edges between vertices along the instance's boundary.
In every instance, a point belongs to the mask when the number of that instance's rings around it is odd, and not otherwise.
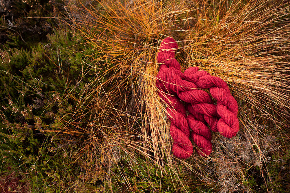
[{"label": "green heather with pale buds, left of the dry golden grass", "polygon": [[79,154],[84,136],[66,128],[80,106],[73,96],[91,78],[79,76],[90,73],[82,64],[92,51],[80,39],[59,30],[30,50],[0,51],[0,172],[19,172],[31,190],[85,192],[103,176],[91,171],[92,156]]}]

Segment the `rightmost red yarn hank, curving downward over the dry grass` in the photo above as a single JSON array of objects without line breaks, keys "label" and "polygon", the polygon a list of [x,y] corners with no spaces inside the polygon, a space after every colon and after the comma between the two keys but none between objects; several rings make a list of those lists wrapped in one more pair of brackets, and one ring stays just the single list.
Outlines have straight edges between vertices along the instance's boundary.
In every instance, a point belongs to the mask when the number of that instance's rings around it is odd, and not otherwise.
[{"label": "rightmost red yarn hank, curving downward over the dry grass", "polygon": [[217,113],[221,117],[217,123],[218,131],[224,137],[234,137],[239,131],[238,103],[231,95],[226,82],[206,71],[199,71],[198,67],[186,69],[183,80],[195,83],[198,88],[209,89],[212,97],[217,100]]}]

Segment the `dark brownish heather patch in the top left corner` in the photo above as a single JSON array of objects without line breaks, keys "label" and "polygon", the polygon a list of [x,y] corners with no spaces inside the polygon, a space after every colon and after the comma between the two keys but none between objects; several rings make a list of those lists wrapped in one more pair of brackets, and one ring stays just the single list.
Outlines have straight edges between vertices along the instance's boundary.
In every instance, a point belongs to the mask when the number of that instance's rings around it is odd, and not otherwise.
[{"label": "dark brownish heather patch in the top left corner", "polygon": [[63,9],[60,0],[0,1],[0,48],[29,49],[58,28],[58,14]]}]

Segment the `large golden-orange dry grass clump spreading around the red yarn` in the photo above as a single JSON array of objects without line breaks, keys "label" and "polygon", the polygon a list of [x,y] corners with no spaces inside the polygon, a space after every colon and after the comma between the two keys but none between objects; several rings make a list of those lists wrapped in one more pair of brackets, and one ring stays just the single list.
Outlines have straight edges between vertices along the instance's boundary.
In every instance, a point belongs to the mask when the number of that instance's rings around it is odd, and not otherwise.
[{"label": "large golden-orange dry grass clump spreading around the red yarn", "polygon": [[[112,192],[115,181],[120,190],[162,191],[162,179],[171,179],[182,192],[253,192],[261,184],[271,191],[267,163],[288,147],[289,4],[70,1],[66,10],[67,22],[95,47],[86,56],[93,58],[86,65],[95,71],[94,83],[77,97],[67,93],[80,106],[74,114],[79,119],[70,124],[88,134],[82,152],[100,160]],[[238,101],[239,133],[232,139],[213,134],[208,158],[172,157],[170,123],[155,87],[155,55],[166,36],[180,45],[182,69],[199,66],[219,76]],[[90,119],[83,120],[85,115]],[[126,171],[137,176],[141,170],[134,168],[141,163],[144,170],[160,171],[160,178],[154,182],[150,172],[142,173],[144,186],[137,186]]]}]

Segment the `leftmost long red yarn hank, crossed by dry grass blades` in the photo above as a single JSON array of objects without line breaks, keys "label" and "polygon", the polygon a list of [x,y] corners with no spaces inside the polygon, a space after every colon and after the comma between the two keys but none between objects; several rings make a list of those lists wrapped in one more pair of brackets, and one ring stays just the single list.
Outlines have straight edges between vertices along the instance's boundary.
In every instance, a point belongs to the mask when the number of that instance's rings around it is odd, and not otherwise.
[{"label": "leftmost long red yarn hank, crossed by dry grass blades", "polygon": [[[166,42],[161,43],[160,50],[164,47],[165,43]],[[176,47],[177,44],[173,48]],[[169,82],[163,81],[168,79],[169,77],[171,77],[172,82],[174,81],[174,78],[179,78],[181,80],[180,76],[182,75],[182,73],[180,72],[178,76],[175,73],[174,69],[172,69],[172,67],[169,68],[164,62],[167,60],[166,58],[174,58],[174,52],[161,50],[157,55],[157,61],[161,64],[156,81],[156,86],[158,89],[157,93],[160,98],[168,105],[166,110],[167,116],[171,120],[170,135],[173,138],[173,155],[180,159],[185,159],[191,156],[193,152],[193,146],[189,139],[190,130],[186,121],[186,110],[182,102],[180,102],[180,100],[178,100],[178,98],[174,96],[175,93],[171,89],[171,86],[169,86]],[[178,65],[175,67],[178,68]],[[168,76],[168,78],[166,78],[166,76]]]}]

